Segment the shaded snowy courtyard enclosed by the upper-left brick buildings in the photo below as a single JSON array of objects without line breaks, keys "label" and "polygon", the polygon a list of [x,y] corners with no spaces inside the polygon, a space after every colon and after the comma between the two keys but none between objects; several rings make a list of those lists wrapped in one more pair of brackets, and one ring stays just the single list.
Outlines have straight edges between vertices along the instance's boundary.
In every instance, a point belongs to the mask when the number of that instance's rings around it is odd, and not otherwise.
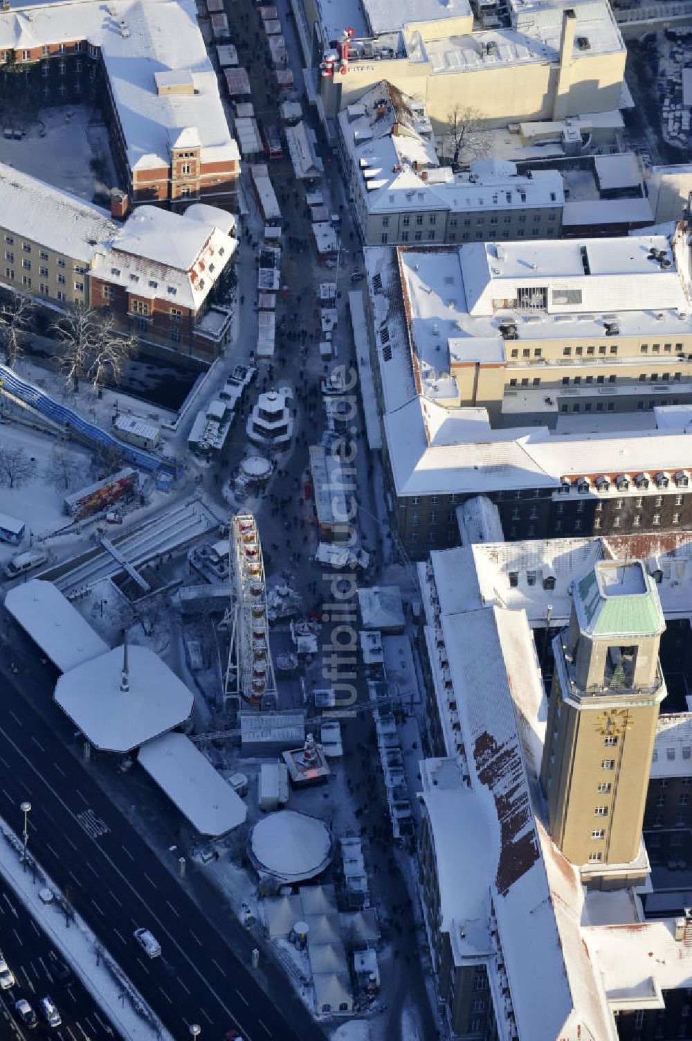
[{"label": "shaded snowy courtyard enclosed by the upper-left brick buildings", "polygon": [[[94,160],[100,167],[96,171]],[[40,109],[39,121],[21,141],[0,135],[0,162],[87,202],[97,188],[119,186],[107,128],[98,111],[81,100]]]}]

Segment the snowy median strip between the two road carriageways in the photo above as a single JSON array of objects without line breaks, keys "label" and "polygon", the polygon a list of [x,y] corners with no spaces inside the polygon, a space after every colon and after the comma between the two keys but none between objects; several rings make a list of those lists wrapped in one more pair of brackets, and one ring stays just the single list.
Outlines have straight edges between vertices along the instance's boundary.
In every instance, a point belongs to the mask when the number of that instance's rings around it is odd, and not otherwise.
[{"label": "snowy median strip between the two road carriageways", "polygon": [[[33,872],[23,870],[21,849],[19,838],[0,819],[0,871],[108,1019],[128,1041],[173,1041],[172,1035],[164,1030],[79,915],[75,915],[68,926],[56,900],[46,905],[40,899],[42,888],[48,887],[54,894],[59,890],[41,869],[36,871],[35,881]],[[121,1000],[123,994],[125,999]]]}]

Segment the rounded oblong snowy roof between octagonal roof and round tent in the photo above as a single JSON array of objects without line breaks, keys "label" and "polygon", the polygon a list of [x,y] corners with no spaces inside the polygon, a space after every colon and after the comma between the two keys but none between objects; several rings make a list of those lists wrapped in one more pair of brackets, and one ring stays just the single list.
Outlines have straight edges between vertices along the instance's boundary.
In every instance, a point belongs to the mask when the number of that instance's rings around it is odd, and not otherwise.
[{"label": "rounded oblong snowy roof between octagonal roof and round tent", "polygon": [[200,835],[226,835],[245,821],[240,796],[184,734],[147,741],[137,760]]}]

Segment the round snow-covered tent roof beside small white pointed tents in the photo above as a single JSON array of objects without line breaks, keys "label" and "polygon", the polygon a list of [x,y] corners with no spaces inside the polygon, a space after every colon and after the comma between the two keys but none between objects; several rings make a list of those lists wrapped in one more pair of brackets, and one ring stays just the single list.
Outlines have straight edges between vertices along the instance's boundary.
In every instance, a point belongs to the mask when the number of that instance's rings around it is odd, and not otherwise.
[{"label": "round snow-covered tent roof beside small white pointed tents", "polygon": [[279,810],[258,820],[250,852],[259,871],[284,882],[301,882],[324,871],[331,856],[329,829],[316,817]]}]

